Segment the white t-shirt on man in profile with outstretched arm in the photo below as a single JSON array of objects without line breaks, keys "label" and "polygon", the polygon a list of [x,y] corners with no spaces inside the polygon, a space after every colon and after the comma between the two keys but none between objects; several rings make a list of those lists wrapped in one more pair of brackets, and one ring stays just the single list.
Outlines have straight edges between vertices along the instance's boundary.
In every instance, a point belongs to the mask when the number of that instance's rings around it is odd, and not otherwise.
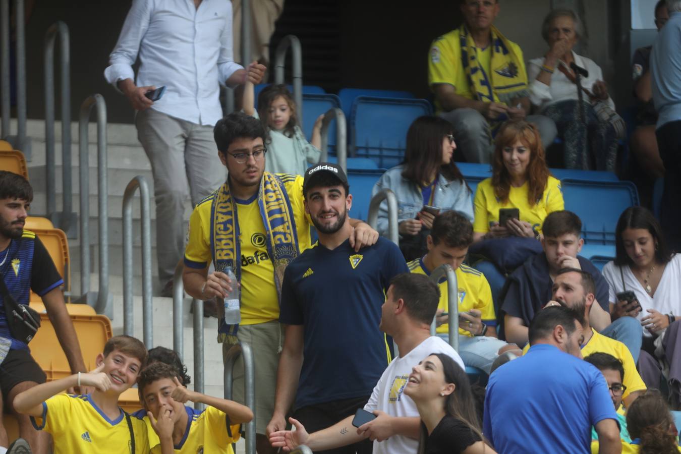
[{"label": "white t-shirt on man in profile with outstretched arm", "polygon": [[[445,353],[466,370],[458,353],[441,338],[431,336],[421,342],[404,357],[397,357],[387,366],[379,383],[371,393],[364,410],[381,410],[394,417],[417,417],[416,404],[404,394],[411,368],[423,361],[430,353]],[[416,453],[419,441],[404,435],[395,435],[383,442],[374,442],[373,454]]]}]

